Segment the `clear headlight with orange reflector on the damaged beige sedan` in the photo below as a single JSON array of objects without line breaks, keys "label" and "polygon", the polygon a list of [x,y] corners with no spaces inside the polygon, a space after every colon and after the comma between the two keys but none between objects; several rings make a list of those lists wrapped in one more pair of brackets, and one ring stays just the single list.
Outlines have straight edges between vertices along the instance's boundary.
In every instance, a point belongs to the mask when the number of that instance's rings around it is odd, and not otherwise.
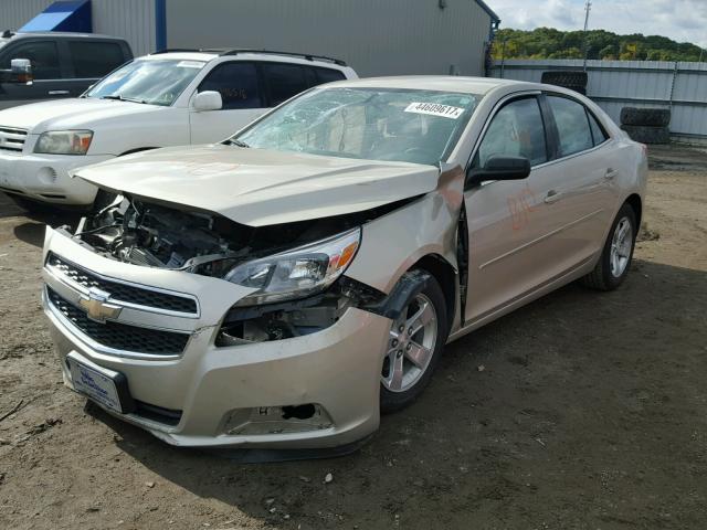
[{"label": "clear headlight with orange reflector on the damaged beige sedan", "polygon": [[239,306],[304,298],[330,286],[354,259],[361,230],[300,246],[232,268],[225,279],[257,290]]}]

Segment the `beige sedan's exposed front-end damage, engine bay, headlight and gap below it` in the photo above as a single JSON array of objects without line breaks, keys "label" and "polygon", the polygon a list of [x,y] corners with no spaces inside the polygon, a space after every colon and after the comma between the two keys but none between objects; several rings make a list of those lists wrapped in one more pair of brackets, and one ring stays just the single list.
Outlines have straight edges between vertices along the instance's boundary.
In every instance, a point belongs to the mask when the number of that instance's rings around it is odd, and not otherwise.
[{"label": "beige sedan's exposed front-end damage, engine bay, headlight and gap below it", "polygon": [[386,295],[342,273],[359,248],[361,226],[401,205],[252,227],[123,194],[82,219],[72,237],[118,262],[252,288],[234,300],[217,336],[217,347],[230,347],[314,333],[336,324],[349,307],[379,312]]}]

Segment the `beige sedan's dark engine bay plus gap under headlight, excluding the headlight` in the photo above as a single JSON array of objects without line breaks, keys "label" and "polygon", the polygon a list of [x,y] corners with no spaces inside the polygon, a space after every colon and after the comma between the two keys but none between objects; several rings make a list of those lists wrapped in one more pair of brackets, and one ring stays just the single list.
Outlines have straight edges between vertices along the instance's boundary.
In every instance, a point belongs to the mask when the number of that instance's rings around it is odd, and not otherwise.
[{"label": "beige sedan's dark engine bay plus gap under headlight, excluding the headlight", "polygon": [[[405,201],[407,202],[407,201]],[[82,219],[73,237],[105,257],[134,265],[224,277],[234,266],[328,237],[399,208],[297,223],[252,227],[222,215],[118,195]],[[383,295],[349,278],[327,292],[284,304],[234,307],[217,346],[281,340],[336,324],[351,306],[373,308]]]}]

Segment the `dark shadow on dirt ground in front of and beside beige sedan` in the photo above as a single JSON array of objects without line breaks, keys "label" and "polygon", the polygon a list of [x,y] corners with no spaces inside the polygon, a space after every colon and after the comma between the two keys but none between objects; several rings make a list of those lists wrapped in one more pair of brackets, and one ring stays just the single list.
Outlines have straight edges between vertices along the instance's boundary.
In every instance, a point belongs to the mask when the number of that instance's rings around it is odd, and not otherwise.
[{"label": "dark shadow on dirt ground in front of and beside beige sedan", "polygon": [[651,262],[614,293],[567,286],[450,344],[337,459],[244,465],[95,414],[166,481],[283,528],[699,528],[706,308],[707,273]]}]

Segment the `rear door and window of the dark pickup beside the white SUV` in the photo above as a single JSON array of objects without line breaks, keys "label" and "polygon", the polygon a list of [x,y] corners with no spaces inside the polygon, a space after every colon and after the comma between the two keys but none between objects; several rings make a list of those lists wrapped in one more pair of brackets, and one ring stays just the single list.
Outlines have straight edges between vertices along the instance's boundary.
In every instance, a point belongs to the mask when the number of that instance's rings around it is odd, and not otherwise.
[{"label": "rear door and window of the dark pickup beside the white SUV", "polygon": [[64,41],[68,62],[66,97],[78,97],[98,80],[125,64],[130,56],[119,41],[67,39]]}]

